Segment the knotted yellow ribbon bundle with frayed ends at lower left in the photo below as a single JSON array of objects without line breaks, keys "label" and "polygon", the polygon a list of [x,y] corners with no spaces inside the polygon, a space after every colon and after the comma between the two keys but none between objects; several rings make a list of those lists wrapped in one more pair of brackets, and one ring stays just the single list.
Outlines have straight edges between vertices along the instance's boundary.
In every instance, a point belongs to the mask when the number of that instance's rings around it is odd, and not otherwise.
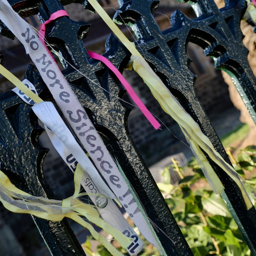
[{"label": "knotted yellow ribbon bundle with frayed ends at lower left", "polygon": [[77,199],[77,197],[80,196],[79,190],[82,175],[83,169],[78,164],[74,175],[74,194],[67,199],[59,201],[33,196],[18,189],[11,183],[9,178],[0,171],[0,201],[6,209],[12,212],[29,213],[51,221],[60,221],[64,217],[73,219],[80,225],[86,227],[94,238],[103,244],[112,255],[122,256],[123,254],[117,251],[106,238],[99,235],[91,224],[80,217],[80,215],[84,216],[90,222],[103,228],[103,230],[115,237],[123,248],[127,248],[131,243],[128,237],[104,222],[94,206],[82,203]]}]

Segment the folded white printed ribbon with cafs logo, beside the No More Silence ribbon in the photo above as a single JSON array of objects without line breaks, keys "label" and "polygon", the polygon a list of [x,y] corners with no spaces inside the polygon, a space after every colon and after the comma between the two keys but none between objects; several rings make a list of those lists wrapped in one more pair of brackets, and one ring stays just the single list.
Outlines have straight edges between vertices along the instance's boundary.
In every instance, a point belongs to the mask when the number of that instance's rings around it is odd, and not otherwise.
[{"label": "folded white printed ribbon with cafs logo, beside the No More Silence ribbon", "polygon": [[[54,108],[53,103],[37,103],[32,107],[32,109],[37,117],[44,123],[45,131],[47,132],[52,144],[62,159],[69,166],[69,168],[72,171],[75,171],[76,165],[79,163],[85,170],[81,180],[81,185],[85,191],[89,193],[91,200],[97,206],[103,220],[105,220],[112,227],[118,229],[124,235],[132,238],[132,242],[128,246],[127,251],[131,256],[137,255],[144,247],[143,241],[138,237],[138,235],[136,235],[126,219],[124,219],[115,203],[103,196],[103,194],[106,194],[102,184],[104,181],[98,175],[98,173],[95,175],[97,170],[87,158],[86,154],[82,151],[78,143],[75,141],[74,137],[61,119],[60,115]],[[64,126],[66,128],[64,128]],[[68,149],[70,148],[70,141],[73,144],[72,149],[74,149],[72,153]],[[79,154],[80,156],[78,156]],[[78,158],[76,159],[74,156],[78,156],[80,161],[77,160]],[[93,194],[95,194],[95,196]]]}]

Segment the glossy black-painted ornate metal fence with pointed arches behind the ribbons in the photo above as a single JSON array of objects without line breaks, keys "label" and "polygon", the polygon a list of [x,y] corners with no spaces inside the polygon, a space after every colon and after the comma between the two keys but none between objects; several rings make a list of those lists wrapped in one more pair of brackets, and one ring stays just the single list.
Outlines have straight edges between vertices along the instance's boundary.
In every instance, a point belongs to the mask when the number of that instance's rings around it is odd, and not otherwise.
[{"label": "glossy black-painted ornate metal fence with pointed arches behind the ribbons", "polygon": [[[47,20],[53,12],[63,9],[62,4],[72,2],[83,4],[86,8],[93,10],[87,1],[79,0],[9,1],[22,17],[38,13],[42,22]],[[199,123],[216,150],[226,161],[229,161],[211,122],[194,93],[195,77],[188,69],[186,47],[189,41],[200,45],[207,55],[216,58],[217,68],[232,71],[241,82],[244,93],[256,110],[254,103],[256,81],[247,61],[247,49],[242,44],[243,35],[240,31],[240,20],[246,4],[244,0],[229,1],[225,8],[219,10],[213,0],[198,0],[197,2],[198,10],[201,10],[199,17],[192,20],[177,11],[171,17],[172,27],[165,31],[159,29],[152,15],[159,1],[124,1],[115,18],[120,23],[124,21],[133,24],[137,34],[137,49],[143,52],[153,70],[186,111]],[[12,33],[6,28],[1,33],[12,37]],[[193,255],[129,136],[127,119],[130,110],[116,97],[122,97],[125,90],[103,64],[89,59],[81,41],[86,38],[87,33],[90,33],[89,24],[62,17],[48,25],[46,38],[76,69],[92,81],[100,83],[101,87],[111,93],[106,93],[68,64],[63,70],[63,74],[81,104],[86,108],[87,114],[102,135],[111,154],[119,162],[139,195],[147,215],[175,242],[173,244],[162,232],[158,233],[166,254]],[[120,71],[123,71],[130,58],[127,49],[114,35],[108,37],[106,46],[104,56],[114,56],[110,61]],[[53,100],[33,66],[28,67],[26,77],[34,83],[43,99]],[[38,126],[35,115],[30,107],[22,103],[12,92],[0,95],[0,100],[2,111],[0,120],[1,170],[19,188],[35,195],[53,198],[43,175],[42,164],[47,152],[38,143],[38,136],[43,130]],[[211,162],[210,159],[209,161]],[[227,205],[252,255],[256,255],[256,212],[254,209],[249,211],[246,209],[234,182],[213,162],[211,164],[225,186]],[[36,219],[36,222],[53,255],[85,255],[65,220],[52,223]]]}]

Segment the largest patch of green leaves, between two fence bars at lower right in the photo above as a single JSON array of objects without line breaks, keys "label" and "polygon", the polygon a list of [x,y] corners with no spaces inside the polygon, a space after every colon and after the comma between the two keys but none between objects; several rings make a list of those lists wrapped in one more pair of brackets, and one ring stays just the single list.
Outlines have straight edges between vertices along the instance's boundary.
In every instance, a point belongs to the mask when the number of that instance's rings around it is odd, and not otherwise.
[{"label": "largest patch of green leaves, between two fence bars at lower right", "polygon": [[190,168],[164,196],[194,255],[250,255],[225,202],[211,191],[197,163]]}]

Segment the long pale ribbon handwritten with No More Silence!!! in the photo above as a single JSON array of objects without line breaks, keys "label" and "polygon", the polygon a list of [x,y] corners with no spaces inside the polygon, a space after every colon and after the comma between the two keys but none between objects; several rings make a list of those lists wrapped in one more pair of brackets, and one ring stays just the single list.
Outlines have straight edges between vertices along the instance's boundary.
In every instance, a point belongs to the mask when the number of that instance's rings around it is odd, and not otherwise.
[{"label": "long pale ribbon handwritten with No More Silence!!!", "polygon": [[41,77],[81,144],[89,153],[114,194],[120,199],[121,204],[125,207],[140,232],[156,248],[160,247],[162,250],[161,243],[127,178],[124,174],[123,176],[120,174],[122,170],[119,171],[85,110],[71,90],[54,59],[41,44],[37,34],[26,21],[12,10],[6,0],[0,1],[0,19],[24,45],[26,53],[30,55],[35,63]]}]

